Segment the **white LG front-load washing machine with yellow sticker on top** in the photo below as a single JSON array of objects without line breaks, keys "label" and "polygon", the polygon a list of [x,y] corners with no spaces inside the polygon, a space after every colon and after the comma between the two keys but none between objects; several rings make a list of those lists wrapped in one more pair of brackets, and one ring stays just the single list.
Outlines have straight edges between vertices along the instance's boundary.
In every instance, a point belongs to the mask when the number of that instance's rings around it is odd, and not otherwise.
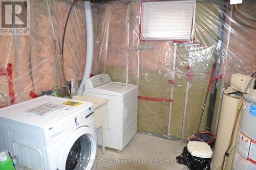
[{"label": "white LG front-load washing machine with yellow sticker on top", "polygon": [[0,109],[0,150],[33,169],[96,169],[93,104],[45,95]]}]

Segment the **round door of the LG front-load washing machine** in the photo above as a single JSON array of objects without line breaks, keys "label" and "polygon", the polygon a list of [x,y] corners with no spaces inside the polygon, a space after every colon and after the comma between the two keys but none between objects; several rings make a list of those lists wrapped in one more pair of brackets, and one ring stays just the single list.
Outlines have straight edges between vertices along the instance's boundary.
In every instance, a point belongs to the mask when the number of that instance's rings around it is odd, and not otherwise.
[{"label": "round door of the LG front-load washing machine", "polygon": [[92,169],[97,155],[95,130],[80,127],[68,138],[59,156],[59,170]]}]

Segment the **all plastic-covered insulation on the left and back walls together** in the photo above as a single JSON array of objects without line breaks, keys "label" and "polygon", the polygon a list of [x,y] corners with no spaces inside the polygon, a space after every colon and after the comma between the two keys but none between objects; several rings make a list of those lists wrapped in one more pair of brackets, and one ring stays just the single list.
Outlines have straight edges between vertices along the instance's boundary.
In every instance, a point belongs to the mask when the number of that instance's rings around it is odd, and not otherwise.
[{"label": "all plastic-covered insulation on the left and back walls together", "polygon": [[[13,64],[15,103],[31,99],[30,91],[39,94],[41,90],[65,86],[61,69],[60,43],[70,5],[71,1],[68,0],[30,1],[30,36],[0,36],[0,69],[6,68],[7,63]],[[195,41],[200,42],[200,45],[192,48],[190,75],[187,69],[190,46],[177,46],[176,62],[175,46],[171,41],[148,41],[147,46],[156,45],[156,48],[135,50],[136,46],[146,45],[139,40],[139,1],[95,3],[92,7],[95,38],[92,74],[109,74],[113,81],[137,84],[140,96],[170,99],[171,93],[174,95],[171,110],[171,103],[168,101],[139,100],[138,131],[182,139],[196,132],[210,69],[216,55],[221,5],[197,3]],[[239,5],[243,11],[251,7],[246,3]],[[217,84],[213,130],[221,89],[228,85],[231,74],[239,72],[250,75],[256,68],[255,22],[242,18],[235,8],[232,9],[231,15],[231,6],[228,6],[224,26],[224,43],[219,68],[223,79]],[[64,65],[68,81],[81,80],[85,60],[84,9],[82,2],[76,2],[70,15],[65,39]],[[0,79],[1,91],[8,94],[8,77],[0,76]],[[168,81],[173,79],[176,83],[169,84]],[[4,101],[1,102],[0,106],[5,105]],[[170,113],[172,116],[169,124]],[[205,115],[206,113],[207,110]],[[201,130],[204,126],[205,117]]]}]

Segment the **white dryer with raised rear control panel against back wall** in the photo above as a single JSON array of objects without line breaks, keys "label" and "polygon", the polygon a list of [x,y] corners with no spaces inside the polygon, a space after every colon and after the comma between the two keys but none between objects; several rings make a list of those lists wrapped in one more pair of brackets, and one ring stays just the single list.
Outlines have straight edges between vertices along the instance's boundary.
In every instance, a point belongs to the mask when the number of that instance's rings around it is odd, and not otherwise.
[{"label": "white dryer with raised rear control panel against back wall", "polygon": [[[137,132],[138,86],[112,82],[109,75],[86,80],[84,95],[107,98],[105,146],[122,151]],[[100,135],[97,134],[99,144]]]}]

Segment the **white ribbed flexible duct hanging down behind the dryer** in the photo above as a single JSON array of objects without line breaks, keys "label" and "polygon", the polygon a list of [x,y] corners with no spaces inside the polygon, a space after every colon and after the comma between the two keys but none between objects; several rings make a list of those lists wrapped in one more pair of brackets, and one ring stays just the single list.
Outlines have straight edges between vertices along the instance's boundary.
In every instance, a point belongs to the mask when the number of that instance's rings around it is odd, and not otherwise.
[{"label": "white ribbed flexible duct hanging down behind the dryer", "polygon": [[86,80],[90,78],[93,62],[93,17],[91,9],[91,1],[83,3],[84,13],[86,14],[86,34],[87,34],[87,52],[86,52],[86,67],[84,68],[82,82],[78,88],[77,94],[82,95]]}]

